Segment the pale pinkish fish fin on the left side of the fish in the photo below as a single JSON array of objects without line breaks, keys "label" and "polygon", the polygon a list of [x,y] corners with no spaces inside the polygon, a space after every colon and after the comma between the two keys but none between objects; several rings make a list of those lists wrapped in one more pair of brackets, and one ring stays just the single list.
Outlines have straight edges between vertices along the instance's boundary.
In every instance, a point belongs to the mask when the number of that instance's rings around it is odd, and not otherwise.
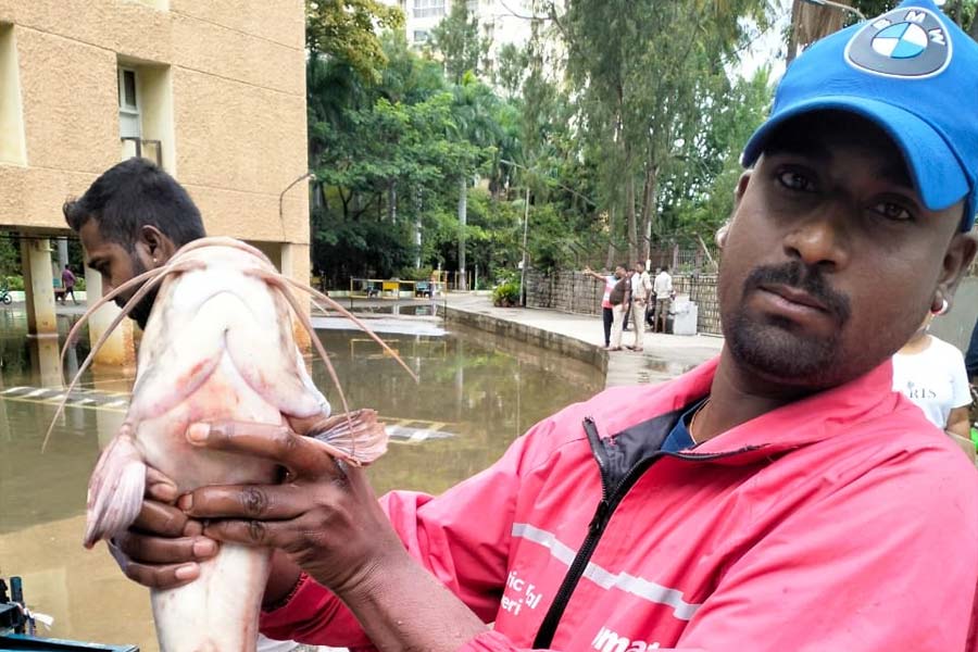
[{"label": "pale pinkish fish fin on the left side of the fish", "polygon": [[146,463],[133,440],[133,428],[122,430],[102,451],[88,482],[88,518],[85,547],[128,528],[142,509]]}]

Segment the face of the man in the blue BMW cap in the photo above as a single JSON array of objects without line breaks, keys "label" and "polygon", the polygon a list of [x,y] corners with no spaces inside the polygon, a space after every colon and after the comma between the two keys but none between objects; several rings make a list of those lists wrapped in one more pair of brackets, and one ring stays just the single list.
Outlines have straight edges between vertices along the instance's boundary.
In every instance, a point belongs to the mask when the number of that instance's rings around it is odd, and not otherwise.
[{"label": "face of the man in the blue BMW cap", "polygon": [[924,208],[899,150],[869,123],[787,125],[741,180],[724,247],[720,313],[738,367],[822,389],[881,363],[973,255],[962,215],[962,203]]}]

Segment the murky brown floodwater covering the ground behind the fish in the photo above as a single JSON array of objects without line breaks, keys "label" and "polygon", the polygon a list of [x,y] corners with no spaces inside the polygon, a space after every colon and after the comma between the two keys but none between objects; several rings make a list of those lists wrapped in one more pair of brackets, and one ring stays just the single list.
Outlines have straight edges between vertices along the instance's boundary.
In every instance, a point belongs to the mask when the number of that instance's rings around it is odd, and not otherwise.
[{"label": "murky brown floodwater covering the ground behind the fish", "polygon": [[[59,319],[63,335],[71,322]],[[419,384],[363,334],[328,319],[317,328],[351,408],[374,408],[389,425],[390,451],[369,469],[378,494],[440,492],[491,464],[540,418],[604,385],[588,365],[485,333],[446,334],[424,317],[371,323],[383,326]],[[25,333],[23,313],[0,311],[0,577],[23,576],[29,606],[54,616],[48,636],[156,650],[148,592],[122,576],[103,544],[80,544],[88,477],[122,422],[131,373],[87,373],[41,454],[61,396],[58,344],[28,341]],[[77,368],[87,349],[86,335],[66,367]],[[325,365],[312,368],[336,409]]]}]

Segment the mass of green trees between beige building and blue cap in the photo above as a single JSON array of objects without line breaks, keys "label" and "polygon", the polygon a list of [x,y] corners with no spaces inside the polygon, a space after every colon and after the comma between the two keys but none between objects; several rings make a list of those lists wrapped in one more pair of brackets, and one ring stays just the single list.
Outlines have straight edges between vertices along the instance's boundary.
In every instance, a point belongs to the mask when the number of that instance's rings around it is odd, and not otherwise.
[{"label": "mass of green trees between beige building and blue cap", "polygon": [[512,285],[524,259],[600,267],[647,233],[709,239],[770,101],[766,72],[728,75],[765,0],[534,0],[549,20],[494,68],[467,3],[451,4],[418,52],[403,29],[363,32],[400,24],[379,0],[308,2],[312,255],[328,286],[463,261]]}]

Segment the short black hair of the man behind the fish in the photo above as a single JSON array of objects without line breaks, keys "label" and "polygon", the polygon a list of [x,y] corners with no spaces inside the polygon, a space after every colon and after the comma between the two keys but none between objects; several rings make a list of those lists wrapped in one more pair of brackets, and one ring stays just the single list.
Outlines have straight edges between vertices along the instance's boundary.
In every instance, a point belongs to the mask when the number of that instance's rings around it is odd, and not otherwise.
[{"label": "short black hair of the man behind the fish", "polygon": [[62,211],[72,230],[77,233],[95,218],[102,238],[129,250],[147,225],[177,247],[206,235],[200,211],[184,187],[154,163],[136,156],[106,170]]}]

